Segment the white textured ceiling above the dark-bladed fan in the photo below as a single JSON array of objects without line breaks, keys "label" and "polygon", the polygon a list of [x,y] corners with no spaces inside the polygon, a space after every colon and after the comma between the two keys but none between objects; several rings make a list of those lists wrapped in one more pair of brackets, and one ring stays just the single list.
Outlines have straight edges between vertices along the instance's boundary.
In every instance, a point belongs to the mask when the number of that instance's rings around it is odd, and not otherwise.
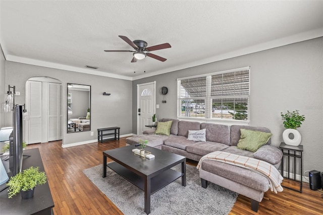
[{"label": "white textured ceiling above the dark-bladed fan", "polygon": [[[1,0],[0,12],[6,60],[127,80],[323,36],[323,1]],[[131,63],[103,51],[133,50],[118,35],[172,48]]]}]

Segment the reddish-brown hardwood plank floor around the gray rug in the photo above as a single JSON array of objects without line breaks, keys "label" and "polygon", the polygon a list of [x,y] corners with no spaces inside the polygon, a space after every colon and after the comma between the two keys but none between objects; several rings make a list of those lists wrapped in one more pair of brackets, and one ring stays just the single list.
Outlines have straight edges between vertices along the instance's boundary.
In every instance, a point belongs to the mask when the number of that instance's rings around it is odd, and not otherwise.
[{"label": "reddish-brown hardwood plank floor around the gray rug", "polygon": [[[101,164],[102,151],[124,147],[125,139],[69,148],[62,148],[61,141],[27,146],[27,149],[39,148],[55,203],[55,214],[123,214],[82,171]],[[190,160],[188,163],[197,165]],[[287,180],[284,183],[292,184]],[[323,214],[321,193],[310,190],[307,183],[303,184],[302,193],[286,188],[278,194],[268,191],[257,213],[250,209],[250,199],[239,195],[230,214]]]}]

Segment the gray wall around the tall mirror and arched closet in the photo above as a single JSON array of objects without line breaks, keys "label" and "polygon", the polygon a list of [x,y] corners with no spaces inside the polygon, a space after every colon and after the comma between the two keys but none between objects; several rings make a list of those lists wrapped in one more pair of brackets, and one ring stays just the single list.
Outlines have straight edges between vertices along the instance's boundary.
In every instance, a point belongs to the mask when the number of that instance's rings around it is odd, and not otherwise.
[{"label": "gray wall around the tall mirror and arched closet", "polygon": [[[64,145],[95,140],[98,128],[118,126],[121,135],[132,133],[131,81],[6,61],[6,85],[15,85],[16,91],[21,93],[16,96],[16,103],[25,103],[26,81],[39,76],[62,81]],[[64,126],[67,123],[67,83],[91,85],[91,131],[94,136],[90,136],[90,131],[67,133],[67,126]],[[103,92],[111,95],[104,96]],[[12,123],[7,122],[6,126],[12,126]]]}]

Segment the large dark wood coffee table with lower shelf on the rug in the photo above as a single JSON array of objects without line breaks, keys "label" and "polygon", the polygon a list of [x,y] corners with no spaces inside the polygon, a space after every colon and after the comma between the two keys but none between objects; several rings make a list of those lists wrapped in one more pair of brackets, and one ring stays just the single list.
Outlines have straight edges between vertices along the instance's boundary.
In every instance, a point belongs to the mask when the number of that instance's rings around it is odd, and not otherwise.
[{"label": "large dark wood coffee table with lower shelf on the rug", "polygon": [[[148,159],[134,154],[132,149],[140,146],[130,145],[103,151],[102,177],[106,177],[109,167],[145,192],[145,209],[150,213],[150,195],[182,177],[182,186],[186,186],[186,157],[147,146],[155,158]],[[106,157],[115,162],[106,164]],[[171,168],[182,164],[182,172]]]}]

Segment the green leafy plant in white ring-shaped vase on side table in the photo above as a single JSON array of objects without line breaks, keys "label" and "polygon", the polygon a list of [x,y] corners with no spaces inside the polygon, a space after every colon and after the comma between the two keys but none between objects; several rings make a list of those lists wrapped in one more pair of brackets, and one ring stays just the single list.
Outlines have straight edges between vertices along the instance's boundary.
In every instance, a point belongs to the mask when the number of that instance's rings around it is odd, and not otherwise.
[{"label": "green leafy plant in white ring-shaped vase on side table", "polygon": [[[301,143],[302,137],[296,128],[301,127],[302,122],[305,120],[304,115],[300,115],[298,110],[293,112],[287,111],[286,114],[281,112],[282,120],[284,121],[284,127],[286,130],[283,132],[283,140],[287,145],[297,146]],[[293,134],[293,138],[290,138],[290,134]]]}]

